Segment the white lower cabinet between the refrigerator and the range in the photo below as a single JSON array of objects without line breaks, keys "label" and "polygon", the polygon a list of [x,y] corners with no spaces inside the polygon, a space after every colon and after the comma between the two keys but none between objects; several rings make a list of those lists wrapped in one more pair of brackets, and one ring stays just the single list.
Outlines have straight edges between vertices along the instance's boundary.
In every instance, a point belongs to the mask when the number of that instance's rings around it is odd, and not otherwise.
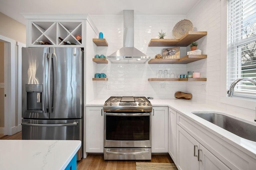
[{"label": "white lower cabinet between the refrigerator and the range", "polygon": [[86,152],[103,153],[104,112],[103,107],[86,107]]}]

